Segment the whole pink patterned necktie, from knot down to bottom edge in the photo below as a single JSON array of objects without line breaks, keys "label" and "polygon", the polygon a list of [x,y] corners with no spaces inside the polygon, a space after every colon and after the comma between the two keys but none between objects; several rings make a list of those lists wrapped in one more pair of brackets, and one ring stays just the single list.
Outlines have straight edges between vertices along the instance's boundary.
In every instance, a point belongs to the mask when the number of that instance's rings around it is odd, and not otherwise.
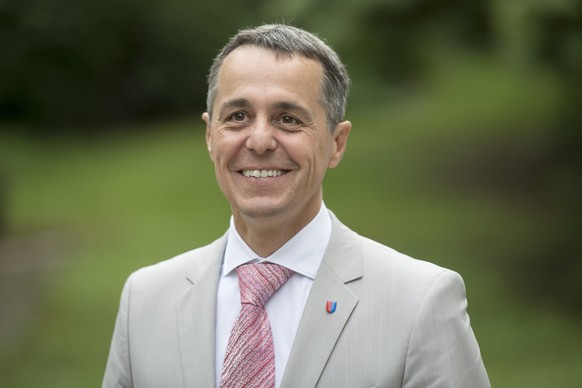
[{"label": "whole pink patterned necktie, from knot down to bottom edge", "polygon": [[264,306],[293,271],[257,263],[241,265],[237,272],[242,308],[228,339],[220,387],[274,387],[275,349]]}]

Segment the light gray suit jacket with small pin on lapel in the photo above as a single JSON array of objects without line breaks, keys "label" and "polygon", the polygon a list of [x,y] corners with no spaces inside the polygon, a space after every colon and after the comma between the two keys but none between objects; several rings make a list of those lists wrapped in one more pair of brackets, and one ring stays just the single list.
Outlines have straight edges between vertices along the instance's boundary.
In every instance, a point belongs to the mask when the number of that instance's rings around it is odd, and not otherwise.
[{"label": "light gray suit jacket with small pin on lapel", "polygon": [[[489,387],[461,277],[332,220],[281,387]],[[225,245],[223,236],[129,277],[103,387],[215,387]]]}]

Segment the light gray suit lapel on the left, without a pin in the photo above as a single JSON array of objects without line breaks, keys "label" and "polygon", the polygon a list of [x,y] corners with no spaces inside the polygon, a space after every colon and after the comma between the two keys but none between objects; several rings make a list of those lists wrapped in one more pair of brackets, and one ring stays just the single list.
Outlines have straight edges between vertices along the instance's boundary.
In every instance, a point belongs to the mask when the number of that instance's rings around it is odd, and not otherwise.
[{"label": "light gray suit lapel on the left, without a pin", "polygon": [[[216,292],[226,238],[211,244],[194,263],[189,286],[176,300],[177,329],[186,387],[215,386]],[[194,266],[193,266],[194,267]]]}]

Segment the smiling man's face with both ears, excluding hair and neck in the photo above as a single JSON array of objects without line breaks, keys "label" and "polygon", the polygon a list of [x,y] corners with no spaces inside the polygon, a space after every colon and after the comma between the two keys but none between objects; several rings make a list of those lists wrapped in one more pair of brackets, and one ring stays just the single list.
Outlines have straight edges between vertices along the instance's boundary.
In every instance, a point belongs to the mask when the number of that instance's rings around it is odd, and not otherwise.
[{"label": "smiling man's face with both ears, excluding hair and neck", "polygon": [[[322,180],[345,150],[351,124],[332,133],[320,104],[322,66],[256,46],[230,53],[220,71],[206,143],[235,221],[305,224]],[[295,223],[295,224],[293,224]]]}]

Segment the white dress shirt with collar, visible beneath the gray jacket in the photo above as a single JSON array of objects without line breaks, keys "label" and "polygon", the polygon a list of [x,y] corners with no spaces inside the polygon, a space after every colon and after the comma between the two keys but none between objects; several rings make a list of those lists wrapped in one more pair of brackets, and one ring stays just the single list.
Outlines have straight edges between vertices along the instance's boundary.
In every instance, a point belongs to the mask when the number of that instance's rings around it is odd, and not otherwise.
[{"label": "white dress shirt with collar, visible beneath the gray jacket", "polygon": [[216,386],[220,375],[230,331],[241,309],[236,267],[249,262],[269,262],[283,265],[295,273],[265,304],[273,332],[275,347],[275,386],[279,387],[285,365],[313,279],[317,274],[331,235],[331,218],[325,207],[315,218],[275,253],[261,258],[238,234],[230,220],[228,242],[218,281],[216,306]]}]

